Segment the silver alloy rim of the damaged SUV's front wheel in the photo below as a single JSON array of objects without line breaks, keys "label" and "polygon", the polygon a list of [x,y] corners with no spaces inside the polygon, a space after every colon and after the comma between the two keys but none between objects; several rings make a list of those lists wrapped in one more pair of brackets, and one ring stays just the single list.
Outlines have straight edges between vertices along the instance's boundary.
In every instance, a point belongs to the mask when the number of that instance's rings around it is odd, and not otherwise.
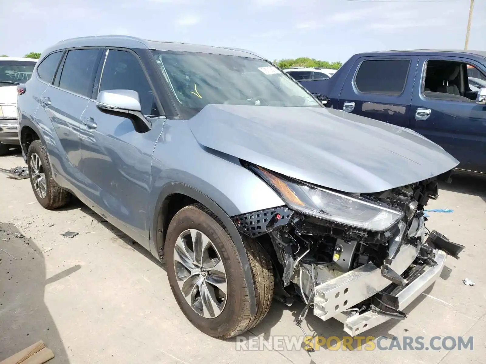
[{"label": "silver alloy rim of the damaged SUV's front wheel", "polygon": [[203,232],[182,232],[174,247],[179,289],[191,308],[206,318],[219,316],[226,304],[228,284],[223,261]]}]

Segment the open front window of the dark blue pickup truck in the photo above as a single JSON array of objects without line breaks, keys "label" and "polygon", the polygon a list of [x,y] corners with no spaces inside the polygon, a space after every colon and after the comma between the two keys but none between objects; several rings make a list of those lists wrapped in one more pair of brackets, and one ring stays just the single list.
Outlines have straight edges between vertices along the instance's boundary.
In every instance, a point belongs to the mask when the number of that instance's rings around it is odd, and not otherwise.
[{"label": "open front window of the dark blue pickup truck", "polygon": [[[469,74],[473,72],[479,77],[471,78]],[[481,71],[465,62],[429,60],[425,67],[423,95],[428,99],[475,102],[482,77]]]}]

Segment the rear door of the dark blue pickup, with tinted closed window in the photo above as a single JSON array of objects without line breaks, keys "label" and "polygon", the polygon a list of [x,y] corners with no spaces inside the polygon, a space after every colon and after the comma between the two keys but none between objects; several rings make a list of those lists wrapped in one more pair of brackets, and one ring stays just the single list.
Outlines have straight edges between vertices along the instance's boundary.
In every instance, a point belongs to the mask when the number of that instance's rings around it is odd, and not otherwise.
[{"label": "rear door of the dark blue pickup, with tinted closed window", "polygon": [[417,56],[361,57],[341,90],[338,109],[408,127]]}]

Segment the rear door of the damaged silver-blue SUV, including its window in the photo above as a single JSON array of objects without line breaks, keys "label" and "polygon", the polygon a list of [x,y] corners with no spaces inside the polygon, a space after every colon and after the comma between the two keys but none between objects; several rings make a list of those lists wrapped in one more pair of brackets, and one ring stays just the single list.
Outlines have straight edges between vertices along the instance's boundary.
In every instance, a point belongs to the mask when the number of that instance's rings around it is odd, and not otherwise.
[{"label": "rear door of the damaged silver-blue SUV, including its window", "polygon": [[66,51],[54,81],[40,98],[36,113],[36,118],[43,119],[54,179],[75,193],[82,183],[80,118],[92,93],[100,57],[100,48]]}]

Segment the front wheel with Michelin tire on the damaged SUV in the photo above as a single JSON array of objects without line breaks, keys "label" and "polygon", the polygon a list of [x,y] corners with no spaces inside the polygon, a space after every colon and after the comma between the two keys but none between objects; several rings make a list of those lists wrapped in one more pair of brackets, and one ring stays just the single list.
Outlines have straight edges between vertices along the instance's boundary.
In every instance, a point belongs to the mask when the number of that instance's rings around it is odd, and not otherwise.
[{"label": "front wheel with Michelin tire on the damaged SUV", "polygon": [[181,209],[171,220],[164,251],[175,300],[200,331],[226,339],[258,324],[273,298],[271,260],[254,240],[245,245],[255,285],[257,314],[236,246],[219,218],[201,204]]}]

